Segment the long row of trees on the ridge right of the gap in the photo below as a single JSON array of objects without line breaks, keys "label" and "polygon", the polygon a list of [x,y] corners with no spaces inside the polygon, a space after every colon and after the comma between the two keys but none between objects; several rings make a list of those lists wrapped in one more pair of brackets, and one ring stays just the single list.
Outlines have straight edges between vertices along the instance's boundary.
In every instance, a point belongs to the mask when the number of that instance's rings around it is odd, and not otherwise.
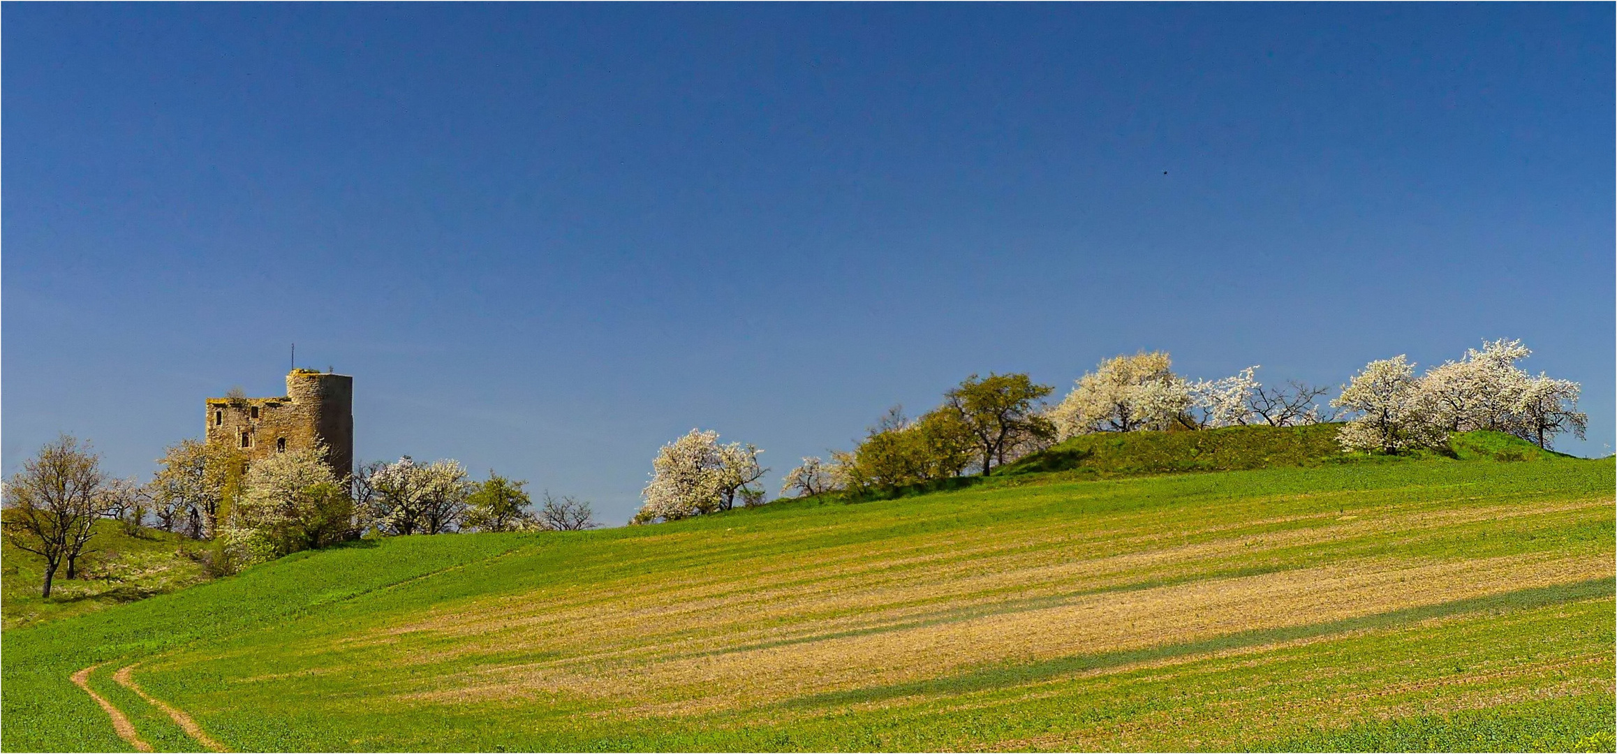
[{"label": "long row of trees on the ridge right of the gap", "polygon": [[[852,450],[833,450],[830,460],[804,458],[786,472],[779,493],[865,493],[986,476],[1056,442],[1096,432],[1342,421],[1337,440],[1344,451],[1371,453],[1444,448],[1449,432],[1475,429],[1507,432],[1543,448],[1557,434],[1581,438],[1588,417],[1577,409],[1578,383],[1522,371],[1517,361],[1530,353],[1520,340],[1488,341],[1418,379],[1405,356],[1373,361],[1324,406],[1329,387],[1297,380],[1264,385],[1256,379],[1258,366],[1190,380],[1174,374],[1163,351],[1104,359],[1054,405],[1046,403],[1054,388],[1027,374],[973,374],[917,417],[907,417],[902,406],[888,409]],[[747,505],[762,503],[763,490],[752,487],[768,471],[758,466],[758,453],[692,429],[658,451],[634,523],[729,510],[737,495]]]}]

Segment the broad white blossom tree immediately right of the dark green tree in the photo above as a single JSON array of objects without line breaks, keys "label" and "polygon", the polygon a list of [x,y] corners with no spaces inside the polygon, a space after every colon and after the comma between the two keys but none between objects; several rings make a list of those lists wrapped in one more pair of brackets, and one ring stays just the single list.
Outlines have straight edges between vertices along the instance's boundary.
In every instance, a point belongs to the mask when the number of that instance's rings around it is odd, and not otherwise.
[{"label": "broad white blossom tree immediately right of the dark green tree", "polygon": [[1190,383],[1163,351],[1114,356],[1079,377],[1049,413],[1061,440],[1090,432],[1167,429],[1190,408]]}]

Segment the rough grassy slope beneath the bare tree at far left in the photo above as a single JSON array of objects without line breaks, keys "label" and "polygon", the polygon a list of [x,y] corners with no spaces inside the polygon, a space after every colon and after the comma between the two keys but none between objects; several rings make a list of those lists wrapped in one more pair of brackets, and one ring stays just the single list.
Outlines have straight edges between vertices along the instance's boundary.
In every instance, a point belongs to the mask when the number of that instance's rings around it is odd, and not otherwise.
[{"label": "rough grassy slope beneath the bare tree at far left", "polygon": [[81,558],[84,578],[57,571],[50,599],[39,595],[45,558],[0,544],[0,625],[6,629],[68,618],[125,602],[173,592],[205,579],[202,566],[181,550],[201,547],[178,534],[125,532],[118,521],[97,521],[91,552]]}]

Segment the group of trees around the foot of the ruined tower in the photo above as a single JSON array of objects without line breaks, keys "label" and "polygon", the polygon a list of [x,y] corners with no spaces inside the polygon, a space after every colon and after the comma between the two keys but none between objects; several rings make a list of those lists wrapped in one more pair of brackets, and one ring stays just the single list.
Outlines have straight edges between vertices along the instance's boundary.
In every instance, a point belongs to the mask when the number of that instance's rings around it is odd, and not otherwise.
[{"label": "group of trees around the foot of the ruined tower", "polygon": [[454,460],[419,464],[361,464],[336,476],[325,448],[293,450],[247,463],[234,448],[183,440],[167,448],[149,482],[108,476],[87,443],[63,435],[23,463],[3,489],[0,529],[11,545],[45,561],[42,592],[57,573],[78,573],[95,549],[95,523],[121,521],[178,532],[213,547],[201,550],[210,571],[364,536],[464,531],[576,531],[595,527],[590,503],[542,495],[493,471],[472,481]]}]

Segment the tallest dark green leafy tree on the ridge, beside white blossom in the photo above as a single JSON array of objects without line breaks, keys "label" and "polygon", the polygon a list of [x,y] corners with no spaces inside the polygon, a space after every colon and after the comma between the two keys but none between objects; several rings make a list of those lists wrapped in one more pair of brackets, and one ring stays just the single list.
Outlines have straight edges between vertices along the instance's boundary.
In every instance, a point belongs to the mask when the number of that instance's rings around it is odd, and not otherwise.
[{"label": "tallest dark green leafy tree on the ridge, beside white blossom", "polygon": [[1043,400],[1054,388],[1038,385],[1027,374],[975,374],[944,393],[944,408],[965,427],[988,476],[996,461],[1030,438],[1054,437],[1056,427],[1040,414]]}]

